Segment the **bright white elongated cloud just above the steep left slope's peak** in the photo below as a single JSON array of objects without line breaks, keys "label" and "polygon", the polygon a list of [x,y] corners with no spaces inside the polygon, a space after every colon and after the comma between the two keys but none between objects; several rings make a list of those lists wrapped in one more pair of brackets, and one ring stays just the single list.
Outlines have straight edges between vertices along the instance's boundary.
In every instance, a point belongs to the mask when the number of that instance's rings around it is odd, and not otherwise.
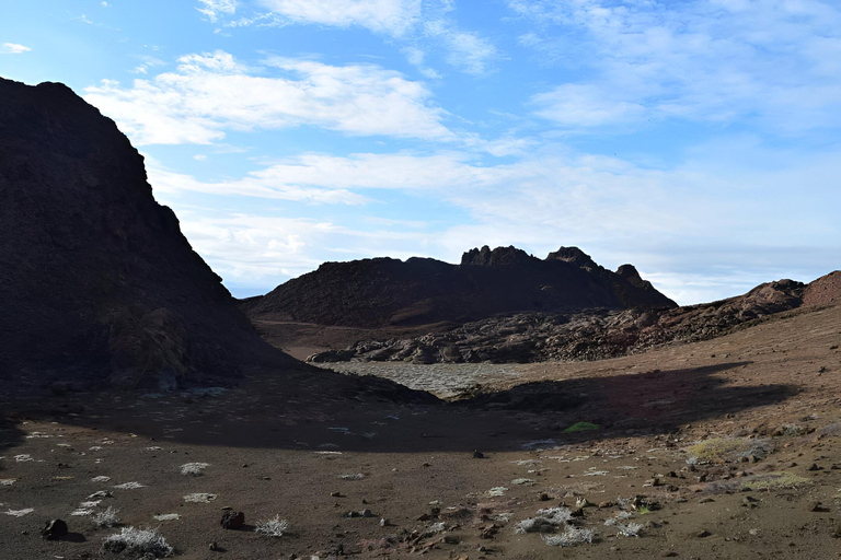
[{"label": "bright white elongated cloud just above the steep left slope's peak", "polygon": [[422,83],[378,66],[276,57],[251,72],[223,51],[178,62],[175,72],[135,80],[130,88],[103,81],[84,97],[137,144],[210,143],[228,129],[302,125],[356,136],[456,138]]}]

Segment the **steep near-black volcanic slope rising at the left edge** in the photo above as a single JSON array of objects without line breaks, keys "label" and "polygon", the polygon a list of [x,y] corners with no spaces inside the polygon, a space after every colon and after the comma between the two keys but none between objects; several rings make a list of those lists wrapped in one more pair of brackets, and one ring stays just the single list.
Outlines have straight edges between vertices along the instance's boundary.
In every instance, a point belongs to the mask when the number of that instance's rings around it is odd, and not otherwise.
[{"label": "steep near-black volcanic slope rising at the left edge", "polygon": [[128,139],[57,83],[0,79],[0,380],[173,385],[292,363],[154,201]]}]

